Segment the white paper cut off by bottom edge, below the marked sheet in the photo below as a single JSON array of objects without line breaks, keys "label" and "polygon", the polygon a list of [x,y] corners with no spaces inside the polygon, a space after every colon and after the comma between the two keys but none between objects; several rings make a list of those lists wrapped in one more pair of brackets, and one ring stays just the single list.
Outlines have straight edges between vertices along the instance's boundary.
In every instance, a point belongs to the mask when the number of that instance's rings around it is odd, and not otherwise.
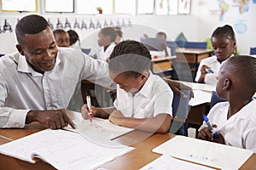
[{"label": "white paper cut off by bottom edge, below the marked sheet", "polygon": [[140,170],[169,170],[169,169],[183,169],[183,170],[212,170],[210,167],[203,167],[189,161],[182,161],[173,158],[172,156],[163,155],[156,160],[148,163]]}]

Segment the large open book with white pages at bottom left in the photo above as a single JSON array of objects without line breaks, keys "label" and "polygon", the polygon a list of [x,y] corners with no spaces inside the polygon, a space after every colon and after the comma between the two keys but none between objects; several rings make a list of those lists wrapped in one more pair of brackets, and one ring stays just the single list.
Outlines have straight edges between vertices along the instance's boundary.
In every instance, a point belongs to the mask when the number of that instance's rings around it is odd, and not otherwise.
[{"label": "large open book with white pages at bottom left", "polygon": [[46,129],[0,145],[0,153],[34,163],[34,158],[56,169],[95,169],[134,148],[107,147],[84,139],[79,133]]}]

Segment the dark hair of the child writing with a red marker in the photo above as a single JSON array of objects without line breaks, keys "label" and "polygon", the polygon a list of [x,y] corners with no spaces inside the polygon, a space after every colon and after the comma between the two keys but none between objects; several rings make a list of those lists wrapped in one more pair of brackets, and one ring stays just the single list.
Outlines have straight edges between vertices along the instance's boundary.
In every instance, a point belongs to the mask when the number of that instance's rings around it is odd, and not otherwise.
[{"label": "dark hair of the child writing with a red marker", "polygon": [[109,57],[108,68],[115,73],[125,73],[126,77],[139,77],[148,71],[151,54],[142,42],[127,40],[119,42]]}]

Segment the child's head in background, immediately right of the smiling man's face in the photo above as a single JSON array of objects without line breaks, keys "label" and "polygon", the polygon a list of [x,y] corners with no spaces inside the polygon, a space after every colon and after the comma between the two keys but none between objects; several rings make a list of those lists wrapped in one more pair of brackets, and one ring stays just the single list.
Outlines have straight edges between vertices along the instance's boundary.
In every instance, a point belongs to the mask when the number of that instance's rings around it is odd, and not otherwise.
[{"label": "child's head in background, immediately right of the smiling man's face", "polygon": [[67,31],[62,29],[56,29],[55,31],[53,31],[53,33],[58,47],[69,47],[69,36]]}]

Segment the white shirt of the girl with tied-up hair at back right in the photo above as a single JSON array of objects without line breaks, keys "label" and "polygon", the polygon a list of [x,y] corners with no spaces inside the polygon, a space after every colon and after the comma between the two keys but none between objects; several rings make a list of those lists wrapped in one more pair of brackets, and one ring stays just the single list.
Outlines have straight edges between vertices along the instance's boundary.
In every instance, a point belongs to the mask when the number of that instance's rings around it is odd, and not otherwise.
[{"label": "white shirt of the girl with tied-up hair at back right", "polygon": [[[233,56],[233,54],[231,55]],[[222,64],[224,63],[224,61],[222,62]],[[207,84],[212,84],[214,86],[216,86],[218,80],[216,77],[218,77],[218,71],[220,66],[222,65],[218,62],[217,56],[213,55],[212,57],[208,57],[206,59],[202,59],[200,62],[200,65],[198,67],[198,71],[196,73],[196,77],[195,77],[195,82],[198,82],[199,78],[201,77],[201,67],[202,65],[207,65],[209,67],[211,67],[212,71],[214,73],[208,73],[205,77],[205,83]]]}]

